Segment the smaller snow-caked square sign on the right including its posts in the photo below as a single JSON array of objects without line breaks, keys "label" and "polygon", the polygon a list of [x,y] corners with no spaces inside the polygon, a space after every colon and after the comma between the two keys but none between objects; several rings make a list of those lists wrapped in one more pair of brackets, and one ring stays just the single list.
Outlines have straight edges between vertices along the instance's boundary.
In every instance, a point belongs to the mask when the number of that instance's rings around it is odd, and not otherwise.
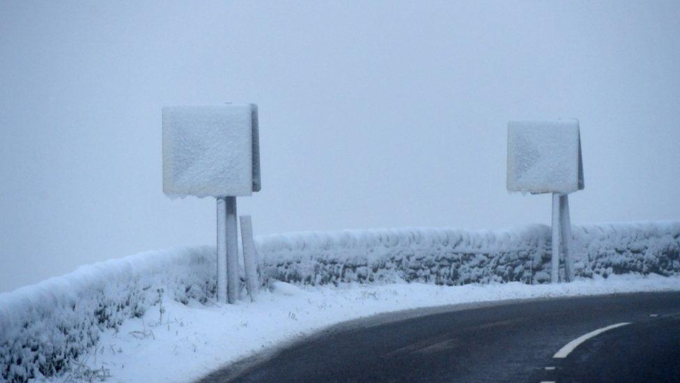
[{"label": "smaller snow-caked square sign on the right including its posts", "polygon": [[569,193],[584,188],[578,120],[510,121],[508,123],[509,191],[553,195],[550,281],[559,280],[559,255],[571,282]]}]

